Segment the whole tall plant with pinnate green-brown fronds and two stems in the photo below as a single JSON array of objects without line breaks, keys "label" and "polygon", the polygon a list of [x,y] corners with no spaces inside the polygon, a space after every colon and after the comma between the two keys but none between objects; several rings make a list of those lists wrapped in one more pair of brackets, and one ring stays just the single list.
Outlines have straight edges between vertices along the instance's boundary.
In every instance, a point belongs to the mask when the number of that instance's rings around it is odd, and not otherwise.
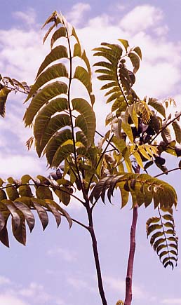
[{"label": "whole tall plant with pinnate green-brown fronds and two stems", "polygon": [[[165,268],[177,264],[173,219],[177,195],[170,184],[157,177],[170,172],[163,158],[165,153],[181,156],[181,113],[166,114],[168,106],[175,103],[171,99],[163,102],[155,98],[140,99],[133,90],[142,59],[138,46],[130,48],[128,41],[123,39],[119,39],[118,44],[104,42],[94,49],[93,55],[98,58],[94,66],[98,80],[104,82],[101,90],[105,90],[105,102],[111,107],[105,119],[109,131],[105,135],[99,133],[95,128],[95,96],[86,52],[81,48],[74,27],[62,15],[54,12],[43,27],[51,22],[53,25],[43,40],[46,41],[54,31],[51,51],[39,67],[34,84],[27,86],[25,82],[1,76],[0,111],[4,116],[6,100],[12,91],[27,94],[25,102],[29,104],[24,121],[34,134],[27,145],[30,148],[34,142],[38,156],[45,155],[54,172],[48,177],[23,175],[20,179],[0,179],[0,240],[9,246],[7,222],[11,217],[13,236],[25,245],[26,223],[32,231],[34,212],[37,212],[43,229],[48,224],[49,213],[55,217],[58,226],[62,217],[67,219],[70,227],[72,222],[82,226],[92,238],[98,289],[102,304],[107,305],[93,210],[98,201],[105,203],[108,198],[111,202],[114,191],[117,191],[121,194],[121,208],[128,204],[129,198],[132,201],[133,222],[126,296],[116,305],[130,305],[135,230],[141,205],[145,208],[154,205],[156,214],[147,220],[146,230],[161,263]],[[130,64],[132,69],[128,69]],[[81,91],[72,89],[74,81],[79,81],[86,89],[86,99],[83,91],[80,96]],[[152,165],[156,165],[161,174],[149,175]],[[172,170],[180,167],[179,163]],[[66,212],[70,201],[79,201],[83,205],[88,215],[87,224],[72,219]]]}]

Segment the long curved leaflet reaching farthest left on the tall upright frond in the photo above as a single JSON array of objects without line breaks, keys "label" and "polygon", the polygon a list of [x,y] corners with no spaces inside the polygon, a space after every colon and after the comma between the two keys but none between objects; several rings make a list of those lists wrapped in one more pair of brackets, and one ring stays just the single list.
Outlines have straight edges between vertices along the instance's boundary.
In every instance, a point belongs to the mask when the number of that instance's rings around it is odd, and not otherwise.
[{"label": "long curved leaflet reaching farthest left on the tall upright frond", "polygon": [[34,116],[38,111],[46,104],[49,100],[61,95],[62,93],[67,93],[66,83],[62,81],[55,81],[54,83],[48,84],[42,90],[40,90],[33,98],[32,102],[29,104],[27,111],[25,112],[24,121],[25,126],[30,126],[34,119]]}]

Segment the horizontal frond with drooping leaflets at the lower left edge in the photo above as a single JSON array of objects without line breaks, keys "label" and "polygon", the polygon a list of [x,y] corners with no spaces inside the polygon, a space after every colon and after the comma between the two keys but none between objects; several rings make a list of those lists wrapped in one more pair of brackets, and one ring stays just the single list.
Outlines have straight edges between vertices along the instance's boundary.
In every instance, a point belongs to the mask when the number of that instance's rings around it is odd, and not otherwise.
[{"label": "horizontal frond with drooping leaflets at the lower left edge", "polygon": [[[11,216],[12,231],[18,242],[26,243],[26,226],[31,232],[34,229],[35,218],[32,210],[39,216],[43,230],[48,225],[48,212],[55,217],[57,225],[60,225],[61,216],[67,218],[69,227],[72,219],[58,203],[53,201],[51,189],[67,205],[70,201],[69,191],[72,189],[66,179],[50,179],[43,176],[36,178],[24,175],[20,180],[9,177],[7,182],[0,180],[0,240],[9,247],[7,222]],[[31,183],[32,182],[32,183]],[[32,187],[34,190],[32,190]],[[36,196],[33,195],[35,192]]]}]

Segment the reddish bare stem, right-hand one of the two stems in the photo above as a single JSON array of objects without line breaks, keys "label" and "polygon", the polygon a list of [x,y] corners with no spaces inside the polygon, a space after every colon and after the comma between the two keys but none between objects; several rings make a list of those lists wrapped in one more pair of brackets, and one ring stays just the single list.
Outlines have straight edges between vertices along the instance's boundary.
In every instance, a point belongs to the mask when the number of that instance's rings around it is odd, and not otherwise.
[{"label": "reddish bare stem, right-hand one of the two stems", "polygon": [[135,230],[138,219],[138,206],[133,208],[133,220],[130,228],[130,252],[128,257],[128,268],[126,275],[126,297],[124,305],[130,305],[132,301],[132,278],[133,278],[133,264],[135,257]]}]

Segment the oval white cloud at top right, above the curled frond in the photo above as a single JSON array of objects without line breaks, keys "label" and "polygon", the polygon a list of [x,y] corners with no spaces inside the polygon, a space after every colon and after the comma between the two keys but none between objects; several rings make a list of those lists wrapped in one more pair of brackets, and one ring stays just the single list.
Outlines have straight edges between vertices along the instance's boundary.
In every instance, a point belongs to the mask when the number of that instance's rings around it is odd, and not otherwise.
[{"label": "oval white cloud at top right, above the curled frond", "polygon": [[155,27],[163,20],[161,9],[150,5],[136,6],[121,19],[120,26],[126,32],[137,33]]}]

